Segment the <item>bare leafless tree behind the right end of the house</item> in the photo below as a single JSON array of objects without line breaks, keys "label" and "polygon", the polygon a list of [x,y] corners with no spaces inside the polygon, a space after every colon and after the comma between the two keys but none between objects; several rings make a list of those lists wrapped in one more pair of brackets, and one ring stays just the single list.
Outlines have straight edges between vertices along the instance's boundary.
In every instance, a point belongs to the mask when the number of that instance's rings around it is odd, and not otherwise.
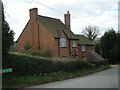
[{"label": "bare leafless tree behind the right end of the house", "polygon": [[98,26],[88,26],[82,29],[82,33],[91,41],[94,41],[95,38],[100,34]]}]

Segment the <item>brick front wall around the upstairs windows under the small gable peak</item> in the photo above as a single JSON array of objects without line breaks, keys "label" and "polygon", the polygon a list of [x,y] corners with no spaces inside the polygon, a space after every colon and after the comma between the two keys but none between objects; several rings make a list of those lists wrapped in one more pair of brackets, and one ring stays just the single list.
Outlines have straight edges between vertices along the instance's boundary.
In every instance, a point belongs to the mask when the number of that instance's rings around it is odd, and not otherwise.
[{"label": "brick front wall around the upstairs windows under the small gable peak", "polygon": [[[66,47],[60,47],[59,39],[55,39],[56,56],[71,58],[75,53],[78,55],[78,40],[69,40],[64,32],[60,34],[60,37],[66,39]],[[76,41],[76,48],[72,47],[72,41]]]}]

